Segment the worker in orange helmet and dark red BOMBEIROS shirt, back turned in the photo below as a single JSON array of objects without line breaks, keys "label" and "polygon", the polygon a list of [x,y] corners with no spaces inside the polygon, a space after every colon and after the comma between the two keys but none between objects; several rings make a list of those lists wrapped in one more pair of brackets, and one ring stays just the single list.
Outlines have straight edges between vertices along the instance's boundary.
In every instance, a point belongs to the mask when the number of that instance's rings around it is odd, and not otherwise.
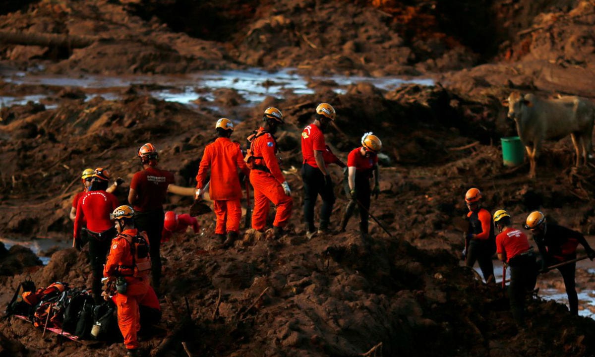
[{"label": "worker in orange helmet and dark red BOMBEIROS shirt, back turned", "polygon": [[138,153],[143,170],[130,182],[128,202],[133,205],[134,224],[149,236],[152,258],[153,287],[159,294],[161,284],[161,231],[163,230],[163,203],[168,187],[174,183],[174,174],[158,168],[159,154],[152,143],[141,146]]}]

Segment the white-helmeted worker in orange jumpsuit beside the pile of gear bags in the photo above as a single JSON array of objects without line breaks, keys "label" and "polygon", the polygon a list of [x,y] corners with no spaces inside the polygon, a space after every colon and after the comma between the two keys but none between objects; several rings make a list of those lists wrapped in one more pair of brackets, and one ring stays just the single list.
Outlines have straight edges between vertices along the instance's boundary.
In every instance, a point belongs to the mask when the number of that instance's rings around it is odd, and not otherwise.
[{"label": "white-helmeted worker in orange jumpsuit beside the pile of gear bags", "polygon": [[[123,277],[126,292],[118,292],[113,299],[118,309],[118,326],[124,336],[124,346],[128,356],[140,356],[139,342],[136,338],[140,330],[139,302],[145,299],[149,291],[148,274],[134,276],[136,270],[131,250],[131,237],[141,235],[147,240],[145,232],[134,228],[134,210],[130,206],[119,206],[111,214],[118,235],[111,242],[111,249],[104,268],[104,277],[116,279]],[[148,271],[147,271],[148,273]]]}]

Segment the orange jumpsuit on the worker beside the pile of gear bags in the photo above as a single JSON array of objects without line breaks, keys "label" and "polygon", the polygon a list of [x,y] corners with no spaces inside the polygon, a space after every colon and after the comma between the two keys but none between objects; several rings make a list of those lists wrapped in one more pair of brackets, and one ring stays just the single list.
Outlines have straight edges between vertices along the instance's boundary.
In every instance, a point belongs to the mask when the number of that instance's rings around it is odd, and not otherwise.
[{"label": "orange jumpsuit on the worker beside the pile of gear bags", "polygon": [[[149,277],[136,278],[126,276],[130,273],[129,269],[121,269],[121,266],[132,266],[132,254],[130,251],[130,243],[122,234],[128,236],[136,236],[136,229],[129,229],[118,234],[112,239],[109,255],[104,267],[104,277],[115,278],[125,275],[127,290],[126,294],[116,294],[114,296],[115,305],[118,308],[118,326],[122,336],[124,336],[124,345],[126,349],[137,349],[139,342],[136,339],[136,333],[140,330],[140,313],[139,301],[145,297],[149,290]],[[141,234],[145,235],[145,232]]]}]

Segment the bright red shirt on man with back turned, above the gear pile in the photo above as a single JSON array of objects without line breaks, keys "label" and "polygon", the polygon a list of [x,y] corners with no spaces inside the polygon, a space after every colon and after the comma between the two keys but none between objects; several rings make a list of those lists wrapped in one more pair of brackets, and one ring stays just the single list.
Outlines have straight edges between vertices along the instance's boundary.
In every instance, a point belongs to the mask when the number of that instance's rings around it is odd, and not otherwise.
[{"label": "bright red shirt on man with back turned, above the gear pile", "polygon": [[118,206],[118,199],[109,192],[102,190],[89,191],[79,199],[74,218],[74,236],[80,237],[83,217],[87,218],[87,229],[95,233],[101,233],[114,227],[109,220],[109,214]]}]

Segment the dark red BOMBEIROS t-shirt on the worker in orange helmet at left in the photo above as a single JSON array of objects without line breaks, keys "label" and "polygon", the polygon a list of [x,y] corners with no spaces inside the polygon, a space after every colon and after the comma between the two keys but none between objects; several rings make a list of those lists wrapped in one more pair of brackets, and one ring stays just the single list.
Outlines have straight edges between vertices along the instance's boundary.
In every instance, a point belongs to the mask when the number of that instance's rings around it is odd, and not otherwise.
[{"label": "dark red BOMBEIROS t-shirt on the worker in orange helmet at left", "polygon": [[167,198],[167,186],[172,183],[174,183],[174,174],[152,166],[134,174],[130,182],[130,188],[138,195],[138,201],[134,203],[134,211],[148,212],[163,209],[163,203]]}]

